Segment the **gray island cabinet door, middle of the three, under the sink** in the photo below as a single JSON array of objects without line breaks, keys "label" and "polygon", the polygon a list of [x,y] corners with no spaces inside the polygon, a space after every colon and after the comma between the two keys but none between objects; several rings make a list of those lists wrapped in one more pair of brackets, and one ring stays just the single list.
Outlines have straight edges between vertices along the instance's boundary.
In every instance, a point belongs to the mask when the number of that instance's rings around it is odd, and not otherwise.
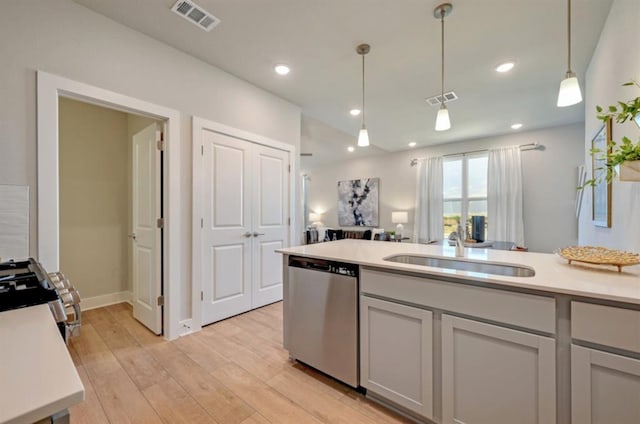
[{"label": "gray island cabinet door, middle of the three, under the sink", "polygon": [[556,422],[555,341],[442,316],[444,424]]}]

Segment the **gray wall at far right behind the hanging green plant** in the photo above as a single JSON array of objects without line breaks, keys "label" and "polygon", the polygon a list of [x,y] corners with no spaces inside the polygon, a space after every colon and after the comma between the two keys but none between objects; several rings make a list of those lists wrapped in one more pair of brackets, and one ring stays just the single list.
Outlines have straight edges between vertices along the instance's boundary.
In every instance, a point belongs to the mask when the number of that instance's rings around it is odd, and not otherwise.
[{"label": "gray wall at far right behind the hanging green plant", "polygon": [[[586,75],[584,161],[590,167],[591,138],[602,124],[596,105],[608,106],[640,95],[637,87],[622,87],[631,79],[640,82],[640,1],[615,0],[604,25]],[[635,124],[613,123],[613,139],[640,139]],[[640,183],[613,181],[611,228],[596,227],[591,221],[591,190],[585,190],[580,215],[580,244],[640,251]]]}]

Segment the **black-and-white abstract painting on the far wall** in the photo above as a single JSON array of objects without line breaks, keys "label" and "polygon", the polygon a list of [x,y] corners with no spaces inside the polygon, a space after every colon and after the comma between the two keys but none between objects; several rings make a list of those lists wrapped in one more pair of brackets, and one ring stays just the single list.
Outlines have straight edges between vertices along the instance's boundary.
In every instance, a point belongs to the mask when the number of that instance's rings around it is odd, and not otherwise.
[{"label": "black-and-white abstract painting on the far wall", "polygon": [[378,226],[378,178],[338,181],[338,224]]}]

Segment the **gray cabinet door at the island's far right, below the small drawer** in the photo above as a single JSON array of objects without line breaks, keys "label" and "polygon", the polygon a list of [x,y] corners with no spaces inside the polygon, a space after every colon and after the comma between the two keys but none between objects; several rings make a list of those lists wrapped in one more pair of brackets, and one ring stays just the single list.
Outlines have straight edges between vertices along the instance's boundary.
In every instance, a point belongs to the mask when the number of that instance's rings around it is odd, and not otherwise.
[{"label": "gray cabinet door at the island's far right, below the small drawer", "polygon": [[640,423],[640,360],[572,345],[571,420]]}]

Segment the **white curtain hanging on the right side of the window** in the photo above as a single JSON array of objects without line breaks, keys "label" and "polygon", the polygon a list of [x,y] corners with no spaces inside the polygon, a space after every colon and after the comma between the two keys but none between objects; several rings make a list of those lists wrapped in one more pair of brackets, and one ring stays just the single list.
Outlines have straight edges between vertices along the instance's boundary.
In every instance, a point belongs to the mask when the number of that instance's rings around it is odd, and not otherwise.
[{"label": "white curtain hanging on the right side of the window", "polygon": [[524,246],[520,148],[490,149],[488,168],[488,238]]}]

